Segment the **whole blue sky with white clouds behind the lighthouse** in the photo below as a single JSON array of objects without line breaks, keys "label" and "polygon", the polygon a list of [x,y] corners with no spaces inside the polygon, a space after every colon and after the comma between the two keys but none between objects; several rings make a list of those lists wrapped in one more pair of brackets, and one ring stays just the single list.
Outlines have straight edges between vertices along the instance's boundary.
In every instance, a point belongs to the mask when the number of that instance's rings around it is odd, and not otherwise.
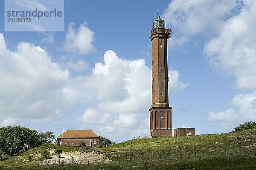
[{"label": "whole blue sky with white clouds behind the lighthouse", "polygon": [[255,121],[255,0],[66,0],[63,32],[4,31],[1,0],[0,126],[148,136],[157,8],[172,29],[173,128],[224,133]]}]

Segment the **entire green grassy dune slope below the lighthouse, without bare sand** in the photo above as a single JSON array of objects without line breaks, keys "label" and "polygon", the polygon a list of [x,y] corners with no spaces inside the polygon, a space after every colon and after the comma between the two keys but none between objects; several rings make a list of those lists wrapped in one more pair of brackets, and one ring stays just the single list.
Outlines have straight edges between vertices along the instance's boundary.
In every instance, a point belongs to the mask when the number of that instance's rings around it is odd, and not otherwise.
[{"label": "entire green grassy dune slope below the lighthouse, without bare sand", "polygon": [[[183,137],[141,138],[97,148],[106,153],[108,164],[40,165],[43,150],[61,148],[64,152],[79,151],[76,147],[44,145],[20,156],[0,161],[10,170],[254,170],[256,169],[256,128],[233,133]],[[29,155],[38,161],[25,161]]]}]

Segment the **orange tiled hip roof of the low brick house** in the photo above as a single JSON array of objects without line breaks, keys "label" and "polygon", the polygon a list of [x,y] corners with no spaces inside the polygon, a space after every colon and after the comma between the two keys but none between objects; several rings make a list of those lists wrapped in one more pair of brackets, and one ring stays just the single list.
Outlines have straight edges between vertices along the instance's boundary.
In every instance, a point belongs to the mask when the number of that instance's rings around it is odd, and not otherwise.
[{"label": "orange tiled hip roof of the low brick house", "polygon": [[92,130],[67,130],[66,132],[62,133],[57,138],[85,138],[85,137],[96,137],[99,138],[98,135],[93,133]]}]

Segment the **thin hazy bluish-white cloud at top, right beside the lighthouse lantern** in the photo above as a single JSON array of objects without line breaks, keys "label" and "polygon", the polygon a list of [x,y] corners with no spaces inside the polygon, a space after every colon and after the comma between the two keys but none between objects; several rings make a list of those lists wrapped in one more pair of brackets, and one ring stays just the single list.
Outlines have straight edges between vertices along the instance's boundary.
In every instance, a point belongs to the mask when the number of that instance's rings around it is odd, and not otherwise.
[{"label": "thin hazy bluish-white cloud at top, right beside the lighthouse lantern", "polygon": [[166,26],[174,34],[169,40],[169,46],[182,46],[198,33],[218,32],[225,19],[236,12],[234,9],[237,6],[240,3],[236,1],[173,0],[163,12]]}]

